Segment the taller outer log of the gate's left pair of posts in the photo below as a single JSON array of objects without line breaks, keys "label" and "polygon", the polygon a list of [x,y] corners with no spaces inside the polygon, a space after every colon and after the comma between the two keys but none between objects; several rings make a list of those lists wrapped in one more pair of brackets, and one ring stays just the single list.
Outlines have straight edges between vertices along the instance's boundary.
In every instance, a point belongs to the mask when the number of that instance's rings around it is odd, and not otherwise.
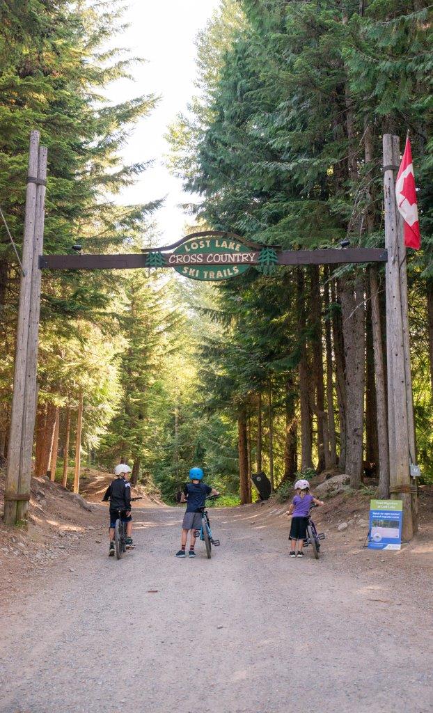
[{"label": "taller outer log of the gate's left pair of posts", "polygon": [[[30,135],[28,178],[38,173],[39,131]],[[11,425],[9,430],[8,462],[4,498],[4,524],[16,523],[17,495],[19,493],[19,466],[22,446],[24,394],[26,389],[27,343],[29,339],[29,312],[31,299],[32,262],[34,257],[34,223],[36,213],[36,183],[27,182],[26,213],[22,251],[23,274],[19,292],[19,312],[16,327],[14,391],[12,394]],[[8,496],[11,496],[10,499]]]}]

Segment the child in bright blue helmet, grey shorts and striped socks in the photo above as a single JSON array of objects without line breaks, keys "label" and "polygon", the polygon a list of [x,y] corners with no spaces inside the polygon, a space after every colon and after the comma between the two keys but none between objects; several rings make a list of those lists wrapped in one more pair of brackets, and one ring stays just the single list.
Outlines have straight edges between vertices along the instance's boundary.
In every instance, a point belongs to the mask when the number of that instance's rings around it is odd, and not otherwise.
[{"label": "child in bright blue helmet, grey shorts and striped socks", "polygon": [[215,488],[203,483],[203,471],[201,468],[190,469],[190,482],[185,483],[185,488],[183,488],[180,498],[181,503],[186,502],[186,512],[183,516],[180,550],[176,553],[176,557],[186,557],[188,530],[190,530],[190,550],[188,554],[190,557],[195,557],[195,530],[200,530],[201,527],[201,508],[203,508],[208,495],[219,494],[218,491],[215,491]]}]

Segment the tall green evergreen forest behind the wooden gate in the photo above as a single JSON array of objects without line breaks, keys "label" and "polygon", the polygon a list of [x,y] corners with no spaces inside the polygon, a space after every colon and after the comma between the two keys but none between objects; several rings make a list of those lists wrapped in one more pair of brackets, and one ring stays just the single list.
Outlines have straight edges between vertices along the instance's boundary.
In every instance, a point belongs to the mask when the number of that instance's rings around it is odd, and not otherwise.
[{"label": "tall green evergreen forest behind the wooden gate", "polygon": [[[151,10],[149,10],[151,11]],[[7,456],[29,134],[48,147],[44,251],[158,245],[156,195],[118,197],[151,156],[123,147],[158,98],[131,74],[123,2],[0,3],[0,461]],[[433,49],[426,0],[221,0],[168,128],[191,194],[185,235],[284,250],[384,246],[382,135],[409,132],[422,250],[407,251],[418,461],[433,481]],[[131,88],[134,85],[131,83]],[[199,197],[199,200],[195,198]],[[194,199],[194,200],[193,200]],[[174,236],[178,240],[181,236]],[[344,250],[344,247],[342,247]],[[202,466],[227,503],[323,470],[389,492],[384,267],[251,268],[220,284],[170,270],[44,272],[34,472],[133,468],[167,502]]]}]

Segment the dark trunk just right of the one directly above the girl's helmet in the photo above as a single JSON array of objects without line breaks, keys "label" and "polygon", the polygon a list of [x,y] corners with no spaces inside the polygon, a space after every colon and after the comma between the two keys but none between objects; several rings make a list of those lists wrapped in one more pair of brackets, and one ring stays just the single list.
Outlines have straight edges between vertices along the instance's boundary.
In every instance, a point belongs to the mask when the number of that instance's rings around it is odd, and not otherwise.
[{"label": "dark trunk just right of the one directly above the girl's helmet", "polygon": [[317,471],[325,468],[325,451],[329,453],[328,443],[325,443],[323,420],[325,416],[325,391],[323,388],[323,345],[322,345],[322,296],[320,294],[320,272],[317,265],[310,268],[310,315],[312,322],[312,376],[315,389],[315,414],[317,418]]}]

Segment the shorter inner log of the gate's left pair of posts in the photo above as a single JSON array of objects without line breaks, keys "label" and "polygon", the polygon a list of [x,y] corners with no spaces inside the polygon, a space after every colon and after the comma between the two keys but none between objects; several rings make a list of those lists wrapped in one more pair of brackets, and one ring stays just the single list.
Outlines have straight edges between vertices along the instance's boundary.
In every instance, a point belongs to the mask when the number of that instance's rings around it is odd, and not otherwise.
[{"label": "shorter inner log of the gate's left pair of posts", "polygon": [[[27,341],[26,359],[26,389],[23,409],[23,430],[21,439],[21,456],[19,463],[19,487],[21,494],[30,493],[31,481],[31,453],[33,451],[34,427],[37,406],[37,369],[39,348],[39,314],[41,311],[41,277],[39,269],[39,255],[44,252],[44,225],[45,225],[45,194],[46,194],[46,161],[48,150],[45,146],[39,147],[39,160],[37,178],[40,183],[36,185],[36,212],[34,224],[33,261],[31,267],[31,295],[29,314],[29,339]],[[29,501],[19,501],[16,508],[16,519],[24,520]]]}]

